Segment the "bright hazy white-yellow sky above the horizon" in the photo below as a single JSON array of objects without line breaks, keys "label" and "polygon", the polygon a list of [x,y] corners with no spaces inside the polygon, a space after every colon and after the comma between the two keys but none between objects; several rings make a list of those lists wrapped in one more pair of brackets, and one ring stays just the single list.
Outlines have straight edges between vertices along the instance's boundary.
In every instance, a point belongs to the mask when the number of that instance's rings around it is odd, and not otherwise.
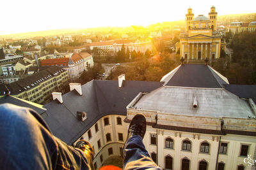
[{"label": "bright hazy white-yellow sky above the horizon", "polygon": [[0,35],[49,29],[149,25],[184,20],[189,7],[195,16],[255,13],[255,0],[4,0]]}]

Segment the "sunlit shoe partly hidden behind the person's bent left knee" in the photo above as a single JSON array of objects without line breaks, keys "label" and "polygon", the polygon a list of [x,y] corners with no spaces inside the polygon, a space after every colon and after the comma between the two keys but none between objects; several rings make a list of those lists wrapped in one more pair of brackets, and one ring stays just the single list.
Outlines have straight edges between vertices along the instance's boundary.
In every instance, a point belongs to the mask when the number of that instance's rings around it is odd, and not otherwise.
[{"label": "sunlit shoe partly hidden behind the person's bent left knee", "polygon": [[81,139],[76,143],[75,147],[81,149],[84,152],[84,154],[88,159],[88,163],[90,164],[91,169],[94,169],[93,167],[94,151],[90,143],[84,139]]}]

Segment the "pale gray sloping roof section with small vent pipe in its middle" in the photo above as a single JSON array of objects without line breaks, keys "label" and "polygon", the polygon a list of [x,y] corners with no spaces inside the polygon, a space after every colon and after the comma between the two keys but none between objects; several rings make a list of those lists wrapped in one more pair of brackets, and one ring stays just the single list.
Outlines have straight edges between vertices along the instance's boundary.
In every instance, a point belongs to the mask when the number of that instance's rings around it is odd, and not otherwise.
[{"label": "pale gray sloping roof section with small vent pipe in its middle", "polygon": [[[193,108],[196,97],[197,108]],[[254,117],[247,101],[225,89],[160,87],[143,95],[133,106],[141,110],[160,111],[198,117]]]}]

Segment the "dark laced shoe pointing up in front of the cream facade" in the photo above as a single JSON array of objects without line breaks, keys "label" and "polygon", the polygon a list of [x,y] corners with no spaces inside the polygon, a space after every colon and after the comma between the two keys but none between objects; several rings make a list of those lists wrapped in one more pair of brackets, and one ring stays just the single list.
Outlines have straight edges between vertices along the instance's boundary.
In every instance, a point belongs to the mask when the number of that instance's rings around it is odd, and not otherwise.
[{"label": "dark laced shoe pointing up in front of the cream facade", "polygon": [[129,125],[127,139],[131,138],[134,135],[139,135],[143,139],[146,129],[147,129],[146,118],[143,114],[138,113],[132,118],[132,121]]}]

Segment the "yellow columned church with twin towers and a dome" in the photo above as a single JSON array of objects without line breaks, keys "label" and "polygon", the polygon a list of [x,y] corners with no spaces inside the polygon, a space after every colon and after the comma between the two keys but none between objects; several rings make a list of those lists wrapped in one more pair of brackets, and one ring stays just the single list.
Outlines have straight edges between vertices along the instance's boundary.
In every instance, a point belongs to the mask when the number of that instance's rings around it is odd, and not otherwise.
[{"label": "yellow columned church with twin towers and a dome", "polygon": [[[211,7],[209,17],[198,15],[194,18],[192,9],[188,8],[186,14],[186,31],[180,34],[180,42],[176,44],[176,50],[180,50],[180,58],[187,62],[191,60],[204,60],[220,57],[221,34],[217,28],[217,12]],[[223,49],[225,49],[223,47]]]}]

